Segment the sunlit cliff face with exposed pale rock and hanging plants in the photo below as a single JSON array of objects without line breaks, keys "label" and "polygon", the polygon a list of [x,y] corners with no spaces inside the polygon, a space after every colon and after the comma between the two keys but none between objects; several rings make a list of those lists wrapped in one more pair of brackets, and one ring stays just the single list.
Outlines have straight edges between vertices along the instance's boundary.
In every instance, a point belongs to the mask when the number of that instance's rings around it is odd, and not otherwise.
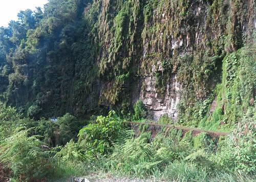
[{"label": "sunlit cliff face with exposed pale rock and hanging plants", "polygon": [[[139,90],[133,103],[141,98],[155,119],[176,118],[182,99],[186,106],[191,98],[205,100],[221,82],[224,57],[254,41],[252,1],[102,1],[101,7],[97,64],[112,80],[101,99],[127,102],[122,94]],[[116,77],[128,72],[123,82],[136,86],[117,89]]]}]

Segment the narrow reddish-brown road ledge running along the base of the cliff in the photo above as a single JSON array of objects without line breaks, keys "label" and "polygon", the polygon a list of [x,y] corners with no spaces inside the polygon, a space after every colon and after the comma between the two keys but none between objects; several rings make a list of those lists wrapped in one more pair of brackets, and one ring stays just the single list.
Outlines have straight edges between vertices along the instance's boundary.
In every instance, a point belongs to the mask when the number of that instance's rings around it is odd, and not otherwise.
[{"label": "narrow reddish-brown road ledge running along the base of the cliff", "polygon": [[131,121],[126,121],[124,123],[127,124],[140,124],[140,125],[152,125],[152,126],[160,126],[160,127],[169,127],[169,128],[176,128],[176,129],[182,129],[183,131],[193,131],[196,133],[202,133],[205,132],[211,136],[215,136],[215,137],[220,137],[220,136],[225,136],[228,135],[229,133],[227,132],[217,132],[217,131],[209,131],[209,130],[205,130],[205,129],[199,129],[199,128],[193,128],[193,127],[185,127],[185,126],[175,126],[175,125],[171,125],[171,124],[158,124],[158,123],[150,123],[150,122],[131,122]]}]

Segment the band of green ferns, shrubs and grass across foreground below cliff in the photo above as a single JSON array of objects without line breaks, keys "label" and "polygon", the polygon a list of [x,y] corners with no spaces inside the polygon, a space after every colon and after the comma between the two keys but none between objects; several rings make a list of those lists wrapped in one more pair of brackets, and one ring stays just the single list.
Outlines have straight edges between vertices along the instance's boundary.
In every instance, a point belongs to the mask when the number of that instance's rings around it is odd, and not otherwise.
[{"label": "band of green ferns, shrubs and grass across foreground below cliff", "polygon": [[162,128],[152,138],[146,125],[135,135],[114,111],[86,122],[66,114],[53,123],[24,118],[14,108],[0,106],[0,159],[12,181],[54,181],[93,172],[156,181],[256,177],[255,109],[248,110],[225,137]]}]

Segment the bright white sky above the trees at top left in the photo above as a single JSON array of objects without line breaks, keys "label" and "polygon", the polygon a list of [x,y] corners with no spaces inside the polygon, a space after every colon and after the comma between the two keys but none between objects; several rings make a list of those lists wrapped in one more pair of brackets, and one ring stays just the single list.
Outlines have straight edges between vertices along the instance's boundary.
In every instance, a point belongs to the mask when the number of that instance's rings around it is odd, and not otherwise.
[{"label": "bright white sky above the trees at top left", "polygon": [[35,7],[44,7],[47,2],[48,0],[0,0],[0,27],[7,27],[10,20],[17,20],[20,10],[33,11]]}]

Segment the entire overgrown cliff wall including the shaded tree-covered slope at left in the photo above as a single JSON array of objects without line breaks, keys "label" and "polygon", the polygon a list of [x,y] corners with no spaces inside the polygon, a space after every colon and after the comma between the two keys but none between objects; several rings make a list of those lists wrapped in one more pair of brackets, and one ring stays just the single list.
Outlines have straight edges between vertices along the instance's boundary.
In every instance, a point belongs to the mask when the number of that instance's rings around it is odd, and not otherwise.
[{"label": "entire overgrown cliff wall including the shaded tree-covered slope at left", "polygon": [[126,115],[142,99],[155,119],[200,118],[227,57],[255,44],[252,0],[80,0],[62,11],[56,2],[6,56],[2,99],[31,116]]}]

